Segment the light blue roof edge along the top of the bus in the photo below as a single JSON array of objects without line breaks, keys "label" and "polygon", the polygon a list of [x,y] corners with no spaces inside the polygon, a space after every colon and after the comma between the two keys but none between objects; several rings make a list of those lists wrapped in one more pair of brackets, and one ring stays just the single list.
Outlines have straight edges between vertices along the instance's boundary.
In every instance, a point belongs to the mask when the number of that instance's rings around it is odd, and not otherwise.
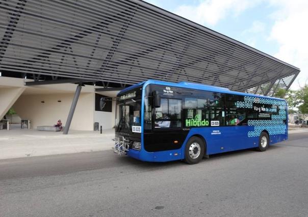
[{"label": "light blue roof edge along the top of the bus", "polygon": [[145,88],[147,85],[164,85],[164,86],[171,86],[171,87],[178,87],[178,88],[187,88],[187,89],[194,89],[194,90],[204,90],[204,91],[213,91],[213,92],[219,92],[219,93],[229,93],[229,94],[237,94],[242,96],[252,96],[252,97],[264,97],[264,98],[271,98],[271,99],[278,99],[278,100],[285,100],[277,97],[269,97],[269,96],[263,96],[263,95],[256,95],[256,94],[250,94],[250,93],[242,93],[237,91],[231,91],[228,88],[224,87],[216,87],[216,86],[210,86],[210,85],[202,85],[198,83],[190,83],[190,82],[179,82],[179,83],[173,83],[173,82],[164,82],[163,80],[147,80],[145,82],[138,83],[136,85],[133,85],[131,87],[125,88],[119,92],[119,94],[129,91],[131,89],[134,89],[139,86],[143,86]]}]

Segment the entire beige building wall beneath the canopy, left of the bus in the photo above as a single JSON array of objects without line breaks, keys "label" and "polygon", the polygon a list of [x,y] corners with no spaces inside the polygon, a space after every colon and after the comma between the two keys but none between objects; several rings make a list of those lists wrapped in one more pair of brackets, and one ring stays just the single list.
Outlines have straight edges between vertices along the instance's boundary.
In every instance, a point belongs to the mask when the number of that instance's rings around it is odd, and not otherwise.
[{"label": "entire beige building wall beneath the canopy, left of the bus", "polygon": [[[12,106],[21,119],[31,121],[31,128],[43,125],[52,126],[57,123],[58,119],[61,119],[65,125],[76,85],[24,86],[24,82],[27,81],[32,80],[0,76],[0,114],[6,114]],[[95,111],[95,88],[102,87],[83,86],[70,129],[93,130],[94,122],[98,122],[102,129],[114,127],[115,101],[113,101],[112,112]],[[115,97],[117,93],[118,91],[108,91],[99,94]],[[13,117],[8,118],[13,120]],[[14,118],[13,122],[19,123],[20,119],[18,120]]]}]

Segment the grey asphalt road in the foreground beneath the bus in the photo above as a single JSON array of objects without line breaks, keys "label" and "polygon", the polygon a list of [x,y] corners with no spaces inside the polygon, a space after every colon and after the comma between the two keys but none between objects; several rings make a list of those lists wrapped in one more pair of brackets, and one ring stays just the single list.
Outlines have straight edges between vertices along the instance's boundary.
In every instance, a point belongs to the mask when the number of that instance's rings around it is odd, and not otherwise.
[{"label": "grey asphalt road in the foreground beneath the bus", "polygon": [[198,165],[112,151],[0,160],[0,216],[308,216],[308,133]]}]

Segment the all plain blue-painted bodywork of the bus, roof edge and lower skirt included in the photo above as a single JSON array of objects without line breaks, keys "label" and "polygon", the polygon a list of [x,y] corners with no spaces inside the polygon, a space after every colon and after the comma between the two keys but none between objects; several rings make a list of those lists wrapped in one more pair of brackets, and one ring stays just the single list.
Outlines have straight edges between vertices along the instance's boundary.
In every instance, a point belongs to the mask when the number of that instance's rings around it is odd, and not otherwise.
[{"label": "all plain blue-painted bodywork of the bus, roof edge and lower skirt included", "polygon": [[[254,94],[230,91],[226,88],[220,88],[220,87],[206,86],[206,85],[201,85],[201,84],[200,85],[191,84],[191,83],[186,83],[186,82],[170,83],[170,82],[163,82],[159,80],[147,80],[146,82],[142,82],[142,83],[136,84],[132,87],[122,90],[120,94],[127,90],[133,89],[135,87],[143,86],[142,98],[144,98],[145,87],[149,84],[283,100],[283,99],[274,98],[274,97],[259,96],[259,95],[254,95]],[[144,107],[144,100],[142,100],[141,106]],[[141,120],[144,120],[144,110],[142,110],[141,112]],[[287,116],[287,123],[288,123],[288,116]],[[206,141],[206,144],[207,144],[206,154],[208,155],[223,153],[223,152],[228,152],[228,151],[255,148],[259,146],[259,136],[254,136],[254,137],[248,136],[248,132],[252,132],[255,130],[254,127],[255,126],[192,127],[187,135],[186,140],[184,141],[180,149],[168,150],[168,151],[147,152],[144,149],[144,139],[143,139],[144,127],[143,127],[143,121],[142,121],[141,122],[141,129],[142,129],[141,151],[130,149],[126,153],[127,155],[133,158],[143,160],[143,161],[152,161],[152,162],[165,162],[165,161],[171,161],[171,160],[184,159],[185,158],[185,144],[194,135],[199,135]],[[287,125],[285,132],[286,133],[284,134],[271,134],[271,132],[269,132],[270,134],[269,135],[269,139],[270,139],[269,145],[272,145],[272,144],[275,144],[281,141],[285,141],[288,139],[288,125]]]}]

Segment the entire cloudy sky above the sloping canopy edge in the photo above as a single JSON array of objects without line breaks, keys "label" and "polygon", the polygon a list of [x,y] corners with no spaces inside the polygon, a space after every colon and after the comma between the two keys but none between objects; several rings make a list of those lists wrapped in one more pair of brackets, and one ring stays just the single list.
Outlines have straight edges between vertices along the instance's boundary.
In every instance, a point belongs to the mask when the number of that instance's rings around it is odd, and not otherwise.
[{"label": "entire cloudy sky above the sloping canopy edge", "polygon": [[145,0],[298,67],[308,84],[307,0]]}]

